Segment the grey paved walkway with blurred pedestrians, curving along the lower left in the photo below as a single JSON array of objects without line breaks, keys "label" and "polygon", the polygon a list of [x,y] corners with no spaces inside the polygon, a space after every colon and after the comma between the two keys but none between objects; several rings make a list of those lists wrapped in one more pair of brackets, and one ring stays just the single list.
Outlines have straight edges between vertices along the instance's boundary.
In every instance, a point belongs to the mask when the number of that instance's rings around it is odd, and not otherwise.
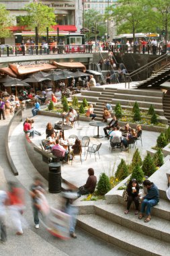
[{"label": "grey paved walkway with blurred pedestrians, curving along the lower left", "polygon": [[[24,112],[24,116],[29,116],[28,112]],[[36,127],[38,128],[38,118],[36,117]],[[40,118],[42,119],[42,117]],[[38,254],[45,256],[47,254],[50,255],[131,255],[126,251],[114,247],[99,238],[95,238],[91,234],[84,232],[83,230],[77,228],[77,236],[78,238],[71,239],[69,241],[61,241],[58,238],[51,236],[43,226],[40,226],[39,230],[34,228],[33,218],[32,218],[32,208],[30,203],[30,196],[28,193],[28,189],[30,183],[32,183],[32,177],[35,174],[38,174],[30,159],[26,154],[26,149],[24,147],[24,134],[21,133],[22,125],[19,125],[17,129],[13,131],[15,136],[13,140],[9,141],[9,147],[11,153],[13,153],[13,158],[15,159],[15,165],[19,170],[19,176],[14,177],[10,166],[7,164],[7,159],[4,152],[4,137],[5,131],[7,129],[7,125],[9,123],[10,118],[7,117],[5,121],[0,121],[0,179],[1,179],[1,188],[6,187],[7,181],[18,181],[25,189],[26,189],[26,212],[24,213],[23,220],[23,228],[24,235],[23,236],[15,236],[15,230],[13,225],[11,224],[9,213],[7,212],[7,236],[8,241],[7,245],[0,245],[1,251],[0,255],[2,256],[15,256],[15,255],[32,255],[36,256]],[[45,122],[46,123],[46,122]],[[21,129],[21,130],[19,130]],[[38,128],[39,129],[39,128]],[[43,128],[44,129],[44,128]],[[39,138],[40,139],[40,138]],[[36,141],[36,137],[35,137]],[[78,163],[75,163],[78,164]],[[74,166],[74,165],[73,165]],[[74,167],[75,168],[75,167]],[[81,167],[82,168],[82,167]],[[69,170],[71,172],[71,170]],[[82,182],[87,179],[87,166],[85,166],[85,179],[82,177]],[[44,180],[44,184],[47,190],[47,182]],[[48,201],[50,205],[59,204],[59,195],[53,195],[46,193],[48,197]],[[18,240],[18,243],[17,243]]]}]

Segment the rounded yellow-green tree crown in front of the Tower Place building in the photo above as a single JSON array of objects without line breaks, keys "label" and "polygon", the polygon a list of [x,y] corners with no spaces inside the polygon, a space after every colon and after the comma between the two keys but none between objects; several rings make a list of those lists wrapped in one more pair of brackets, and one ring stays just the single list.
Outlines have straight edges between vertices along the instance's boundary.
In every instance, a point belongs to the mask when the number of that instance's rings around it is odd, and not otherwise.
[{"label": "rounded yellow-green tree crown in front of the Tower Place building", "polygon": [[24,25],[27,25],[30,29],[34,30],[38,28],[38,34],[41,34],[48,27],[55,25],[54,8],[43,5],[42,3],[29,3],[24,7],[28,15],[24,18]]}]

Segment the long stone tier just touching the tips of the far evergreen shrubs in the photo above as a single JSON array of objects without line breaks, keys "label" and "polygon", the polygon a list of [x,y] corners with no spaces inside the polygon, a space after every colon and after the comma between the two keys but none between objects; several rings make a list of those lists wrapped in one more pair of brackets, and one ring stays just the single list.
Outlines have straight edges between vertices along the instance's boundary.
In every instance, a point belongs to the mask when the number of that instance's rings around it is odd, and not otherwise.
[{"label": "long stone tier just touching the tips of the far evergreen shrubs", "polygon": [[[121,105],[127,105],[127,106],[133,106],[134,105],[134,103],[136,102],[136,100],[124,100],[124,99],[116,99],[116,98],[114,98],[113,100],[112,100],[112,104],[117,104],[117,103],[120,103]],[[162,103],[155,103],[155,102],[152,102],[152,104],[153,104],[153,107],[154,108],[160,108],[160,109],[162,109],[163,108],[163,104]],[[142,102],[142,101],[138,101],[138,106],[139,107],[147,107],[147,108],[149,108],[150,106],[151,106],[151,102]]]}]

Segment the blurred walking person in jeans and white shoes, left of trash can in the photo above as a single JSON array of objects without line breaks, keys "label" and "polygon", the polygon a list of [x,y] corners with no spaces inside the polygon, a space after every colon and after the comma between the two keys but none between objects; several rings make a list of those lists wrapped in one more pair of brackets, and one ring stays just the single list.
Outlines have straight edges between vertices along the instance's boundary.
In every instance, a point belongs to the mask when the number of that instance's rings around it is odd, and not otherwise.
[{"label": "blurred walking person in jeans and white shoes, left of trash can", "polygon": [[30,186],[30,196],[32,197],[32,210],[34,216],[35,228],[39,228],[39,218],[38,218],[38,198],[36,191],[44,193],[44,188],[42,182],[38,177],[34,178],[34,183]]}]

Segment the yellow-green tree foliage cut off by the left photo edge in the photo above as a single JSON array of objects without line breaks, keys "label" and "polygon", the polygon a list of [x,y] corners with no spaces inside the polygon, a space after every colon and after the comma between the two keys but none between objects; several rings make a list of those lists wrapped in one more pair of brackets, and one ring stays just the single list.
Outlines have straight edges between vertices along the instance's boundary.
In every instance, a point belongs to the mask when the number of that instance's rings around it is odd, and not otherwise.
[{"label": "yellow-green tree foliage cut off by the left photo edge", "polygon": [[0,38],[9,37],[10,26],[13,25],[13,18],[10,16],[10,12],[7,11],[5,5],[0,4]]}]

